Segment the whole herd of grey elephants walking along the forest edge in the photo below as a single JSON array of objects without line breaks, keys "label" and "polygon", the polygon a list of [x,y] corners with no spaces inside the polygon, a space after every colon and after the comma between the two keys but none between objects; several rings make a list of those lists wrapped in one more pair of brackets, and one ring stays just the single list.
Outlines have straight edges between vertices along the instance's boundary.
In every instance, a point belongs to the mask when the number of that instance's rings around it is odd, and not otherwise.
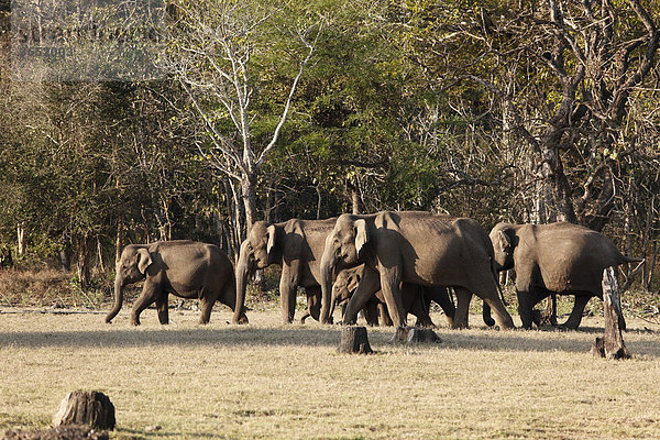
[{"label": "whole herd of grey elephants walking along the forest edge", "polygon": [[[334,307],[344,305],[342,322],[358,314],[370,324],[432,326],[433,300],[452,328],[468,327],[472,295],[484,301],[484,322],[514,328],[502,300],[498,272],[515,271],[518,314],[531,328],[534,307],[551,293],[575,295],[566,328],[578,328],[592,296],[602,297],[603,270],[641,262],[624,256],[605,235],[572,223],[499,223],[488,234],[475,220],[418,211],[342,215],[327,220],[292,219],[255,222],[240,248],[235,271],[216,245],[193,241],[130,244],[117,263],[114,307],[120,311],[123,288],[144,280],[131,310],[131,323],[156,304],[158,320],[168,322],[168,294],[198,298],[200,323],[207,323],[216,301],[233,310],[232,322],[246,323],[246,283],[257,270],[282,266],[282,319],[294,320],[296,294],[304,288],[307,310],[331,323]],[[455,306],[448,288],[455,293]],[[380,310],[380,314],[378,314]],[[494,320],[491,318],[494,314]]]}]

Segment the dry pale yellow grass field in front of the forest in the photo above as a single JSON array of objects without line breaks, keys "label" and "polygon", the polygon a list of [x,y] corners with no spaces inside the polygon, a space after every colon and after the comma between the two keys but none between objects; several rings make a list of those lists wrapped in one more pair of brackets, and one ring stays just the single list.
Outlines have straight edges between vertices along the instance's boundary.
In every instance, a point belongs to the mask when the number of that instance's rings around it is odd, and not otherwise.
[{"label": "dry pale yellow grass field in front of the forest", "polygon": [[[580,331],[437,330],[442,343],[389,342],[338,354],[340,328],[283,326],[279,310],[230,326],[229,309],[155,310],[129,326],[103,314],[0,309],[0,432],[44,429],[74,389],[106,393],[116,439],[650,439],[660,438],[660,326],[628,319],[630,361],[588,354]],[[444,318],[433,316],[437,323]],[[519,321],[518,321],[519,323]]]}]

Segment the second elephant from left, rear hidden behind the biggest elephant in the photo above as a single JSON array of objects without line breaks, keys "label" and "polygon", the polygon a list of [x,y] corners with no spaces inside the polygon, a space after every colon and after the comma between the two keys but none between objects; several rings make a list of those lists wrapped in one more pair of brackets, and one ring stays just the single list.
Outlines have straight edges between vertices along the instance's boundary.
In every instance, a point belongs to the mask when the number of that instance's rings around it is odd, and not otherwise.
[{"label": "second elephant from left, rear hidden behind the biggest elephant", "polygon": [[306,315],[319,319],[319,265],[326,235],[332,230],[334,220],[292,219],[272,224],[255,222],[241,243],[237,264],[237,304],[244,304],[248,279],[257,268],[278,264],[282,266],[279,300],[283,321],[290,323],[294,320],[298,286],[307,293]]}]

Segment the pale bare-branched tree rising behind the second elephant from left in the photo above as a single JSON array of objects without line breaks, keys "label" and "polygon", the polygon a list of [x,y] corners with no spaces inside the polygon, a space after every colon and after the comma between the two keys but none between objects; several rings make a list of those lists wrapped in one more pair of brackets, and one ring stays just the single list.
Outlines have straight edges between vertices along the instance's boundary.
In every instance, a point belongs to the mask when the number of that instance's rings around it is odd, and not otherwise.
[{"label": "pale bare-branched tree rising behind the second elephant from left", "polygon": [[[322,20],[310,18],[304,9],[295,10],[293,3],[271,4],[179,2],[172,25],[169,65],[206,131],[205,139],[197,141],[199,153],[228,177],[234,216],[240,219],[244,212],[248,227],[256,220],[257,178],[277,145],[298,82],[322,31]],[[298,14],[299,20],[287,21]],[[260,69],[260,63],[270,58],[286,64],[286,56],[295,59],[297,70],[284,102],[260,102],[263,75],[286,75],[268,72],[263,65]],[[257,120],[274,118],[277,108],[279,117],[272,132],[256,134]],[[240,231],[235,238],[241,238]]]}]

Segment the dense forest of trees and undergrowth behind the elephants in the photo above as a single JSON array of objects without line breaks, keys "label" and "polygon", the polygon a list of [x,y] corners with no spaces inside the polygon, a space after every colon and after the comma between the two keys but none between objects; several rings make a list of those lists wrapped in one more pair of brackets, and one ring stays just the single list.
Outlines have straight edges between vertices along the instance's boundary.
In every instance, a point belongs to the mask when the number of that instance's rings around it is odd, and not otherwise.
[{"label": "dense forest of trees and undergrowth behind the elephants", "polygon": [[0,11],[6,263],[85,290],[129,242],[428,210],[585,224],[659,289],[657,1],[174,0],[140,80],[21,80]]}]

